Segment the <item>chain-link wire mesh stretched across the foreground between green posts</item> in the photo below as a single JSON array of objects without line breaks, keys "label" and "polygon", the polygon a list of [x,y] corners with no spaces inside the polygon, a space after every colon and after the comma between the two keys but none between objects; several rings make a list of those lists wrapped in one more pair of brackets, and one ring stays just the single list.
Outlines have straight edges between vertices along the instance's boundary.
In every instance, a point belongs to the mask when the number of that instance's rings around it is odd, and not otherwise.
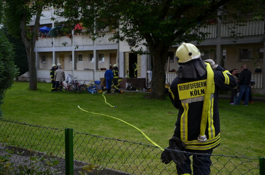
[{"label": "chain-link wire mesh stretched across the foreground between green posts", "polygon": [[[9,159],[15,163],[15,168],[22,162],[31,160],[30,157],[42,155],[47,159],[53,157],[58,160],[53,168],[59,169],[59,174],[67,174],[69,158],[66,152],[69,150],[65,151],[65,144],[68,142],[65,141],[65,129],[1,119],[0,130],[0,156],[5,154],[6,149],[14,150]],[[102,166],[103,170],[100,170],[99,174],[176,174],[176,164],[162,163],[161,150],[152,145],[105,138],[75,130],[70,139],[73,140],[70,159],[74,162],[74,174],[79,174],[87,164]],[[212,154],[211,160],[211,174],[262,174],[265,169],[264,163],[260,165],[264,158],[261,161],[259,157]]]}]

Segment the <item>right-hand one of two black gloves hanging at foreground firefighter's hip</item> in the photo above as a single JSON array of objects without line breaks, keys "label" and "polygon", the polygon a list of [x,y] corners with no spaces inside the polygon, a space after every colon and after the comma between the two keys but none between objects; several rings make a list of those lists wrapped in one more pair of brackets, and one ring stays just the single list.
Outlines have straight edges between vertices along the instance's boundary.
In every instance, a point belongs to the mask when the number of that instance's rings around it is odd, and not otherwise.
[{"label": "right-hand one of two black gloves hanging at foreground firefighter's hip", "polygon": [[[186,160],[186,156],[185,154],[179,152],[181,151],[183,148],[185,148],[185,144],[177,137],[173,136],[170,140],[169,140],[169,149],[172,150],[168,150],[170,151],[170,157],[173,160],[173,162],[175,162],[178,165],[184,164],[184,160]],[[177,150],[177,151],[173,151],[173,150]]]}]

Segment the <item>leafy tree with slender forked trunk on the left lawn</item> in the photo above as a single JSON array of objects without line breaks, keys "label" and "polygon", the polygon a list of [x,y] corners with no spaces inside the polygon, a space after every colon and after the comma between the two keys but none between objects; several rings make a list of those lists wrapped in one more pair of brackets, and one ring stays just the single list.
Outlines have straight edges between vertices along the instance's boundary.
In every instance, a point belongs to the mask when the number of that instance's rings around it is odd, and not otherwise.
[{"label": "leafy tree with slender forked trunk on the left lawn", "polygon": [[[47,1],[9,0],[5,3],[5,26],[14,37],[20,38],[25,45],[28,68],[30,73],[30,90],[37,89],[36,61],[34,47],[38,37],[38,27],[42,9],[47,7]],[[32,17],[35,17],[33,26],[28,26]]]}]

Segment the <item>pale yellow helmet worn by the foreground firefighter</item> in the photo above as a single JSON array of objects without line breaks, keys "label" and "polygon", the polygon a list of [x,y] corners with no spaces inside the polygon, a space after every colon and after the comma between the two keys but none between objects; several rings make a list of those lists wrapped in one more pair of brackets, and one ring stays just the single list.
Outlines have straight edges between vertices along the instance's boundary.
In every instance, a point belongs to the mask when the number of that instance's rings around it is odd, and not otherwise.
[{"label": "pale yellow helmet worn by the foreground firefighter", "polygon": [[200,57],[200,50],[190,43],[182,43],[176,51],[176,59],[179,64],[184,64]]}]

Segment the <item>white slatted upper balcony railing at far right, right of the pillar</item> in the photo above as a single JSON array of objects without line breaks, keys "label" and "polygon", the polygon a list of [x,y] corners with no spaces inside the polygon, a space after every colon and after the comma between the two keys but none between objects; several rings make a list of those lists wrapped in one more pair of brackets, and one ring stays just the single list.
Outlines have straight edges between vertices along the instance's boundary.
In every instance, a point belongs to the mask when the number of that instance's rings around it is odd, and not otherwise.
[{"label": "white slatted upper balcony railing at far right, right of the pillar", "polygon": [[236,36],[263,35],[264,21],[246,20],[239,24],[236,21],[221,24],[221,37],[230,37],[231,31],[234,31]]}]

